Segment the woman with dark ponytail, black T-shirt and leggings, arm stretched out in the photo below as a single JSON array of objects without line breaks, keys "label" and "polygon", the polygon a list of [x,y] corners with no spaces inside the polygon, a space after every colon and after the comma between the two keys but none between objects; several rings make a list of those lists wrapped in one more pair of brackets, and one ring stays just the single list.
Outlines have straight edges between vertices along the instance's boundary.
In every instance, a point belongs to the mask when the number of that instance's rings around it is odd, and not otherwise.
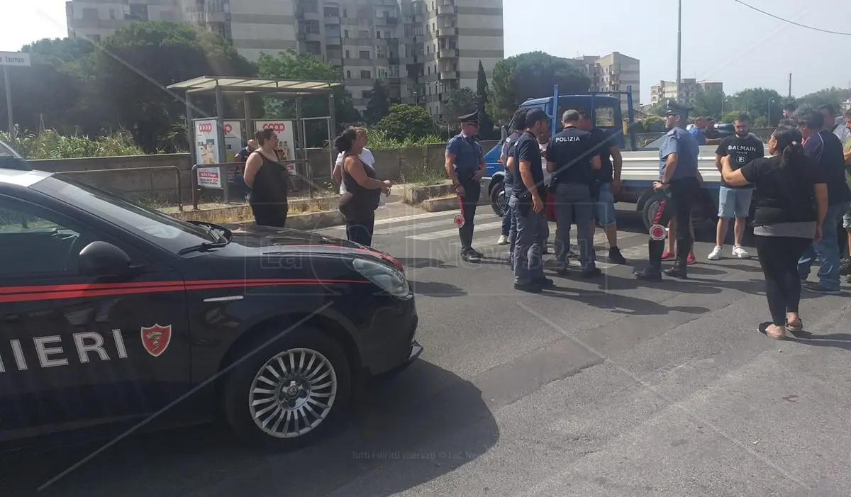
[{"label": "woman with dark ponytail, black T-shirt and leggings, arm stretched out", "polygon": [[804,155],[802,141],[797,129],[782,126],[768,140],[772,157],[757,158],[735,171],[730,156],[721,163],[728,185],[757,186],[753,234],[771,311],[771,322],[760,324],[759,331],[774,339],[785,338],[786,330],[803,329],[797,261],[820,239],[827,212],[825,179]]}]

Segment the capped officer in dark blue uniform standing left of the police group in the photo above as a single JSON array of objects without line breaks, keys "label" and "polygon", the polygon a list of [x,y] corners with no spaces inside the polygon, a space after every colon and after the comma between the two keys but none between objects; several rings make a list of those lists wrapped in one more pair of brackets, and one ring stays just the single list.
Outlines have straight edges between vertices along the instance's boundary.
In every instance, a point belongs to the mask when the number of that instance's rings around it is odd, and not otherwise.
[{"label": "capped officer in dark blue uniform standing left of the police group", "polygon": [[473,219],[476,216],[479,196],[482,194],[479,180],[485,172],[482,144],[476,139],[479,129],[478,111],[460,116],[459,119],[461,133],[453,136],[446,144],[445,167],[464,216],[464,224],[458,229],[461,238],[461,259],[479,262],[483,254],[472,247]]}]

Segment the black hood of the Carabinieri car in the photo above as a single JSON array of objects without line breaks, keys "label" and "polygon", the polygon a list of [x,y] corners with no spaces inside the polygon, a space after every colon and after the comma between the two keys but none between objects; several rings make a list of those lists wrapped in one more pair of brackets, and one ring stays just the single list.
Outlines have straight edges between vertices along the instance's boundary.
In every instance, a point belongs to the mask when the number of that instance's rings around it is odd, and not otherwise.
[{"label": "black hood of the Carabinieri car", "polygon": [[334,254],[350,255],[351,257],[372,256],[375,259],[390,263],[400,271],[402,264],[390,254],[365,247],[358,243],[349,242],[336,237],[328,237],[312,231],[257,226],[254,224],[221,225],[231,231],[231,243],[227,248],[239,250],[243,255],[293,256],[294,254]]}]

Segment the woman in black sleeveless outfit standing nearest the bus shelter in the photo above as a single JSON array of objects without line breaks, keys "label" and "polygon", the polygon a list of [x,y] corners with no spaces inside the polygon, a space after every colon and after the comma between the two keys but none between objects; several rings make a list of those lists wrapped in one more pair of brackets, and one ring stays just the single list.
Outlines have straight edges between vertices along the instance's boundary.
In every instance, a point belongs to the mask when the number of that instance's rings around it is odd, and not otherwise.
[{"label": "woman in black sleeveless outfit standing nearest the bus shelter", "polygon": [[248,156],[243,173],[243,180],[251,189],[248,205],[258,226],[283,228],[287,222],[289,183],[287,169],[277,162],[277,135],[271,129],[263,129],[254,134],[254,139],[260,148]]}]

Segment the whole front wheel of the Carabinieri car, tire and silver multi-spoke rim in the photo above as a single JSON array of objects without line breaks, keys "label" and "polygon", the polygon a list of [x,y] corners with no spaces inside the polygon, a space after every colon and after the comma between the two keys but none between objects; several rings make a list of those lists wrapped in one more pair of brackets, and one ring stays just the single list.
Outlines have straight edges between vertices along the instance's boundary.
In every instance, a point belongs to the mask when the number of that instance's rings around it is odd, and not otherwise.
[{"label": "whole front wheel of the Carabinieri car, tire and silver multi-spoke rim", "polygon": [[301,327],[263,346],[277,331],[240,347],[235,357],[248,358],[226,375],[222,402],[238,436],[288,451],[313,443],[340,418],[351,369],[346,352],[321,329]]}]

